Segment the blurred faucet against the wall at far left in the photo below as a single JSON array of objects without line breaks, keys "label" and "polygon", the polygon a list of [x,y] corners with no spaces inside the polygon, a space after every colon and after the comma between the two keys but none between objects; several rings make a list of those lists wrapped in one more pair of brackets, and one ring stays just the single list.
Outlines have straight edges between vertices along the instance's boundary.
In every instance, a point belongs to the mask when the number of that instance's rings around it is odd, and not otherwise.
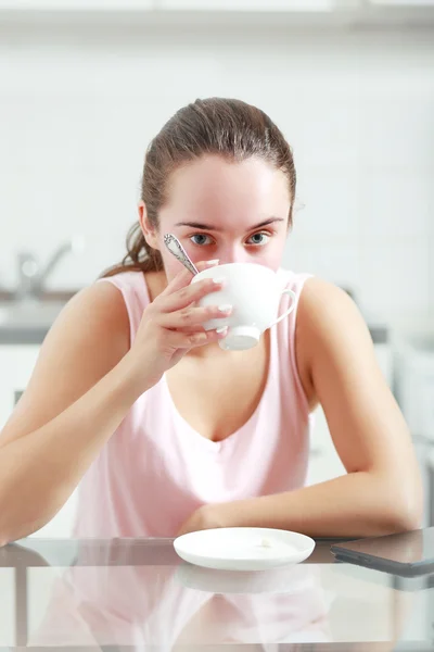
[{"label": "blurred faucet against the wall at far left", "polygon": [[14,299],[39,299],[48,277],[60,261],[69,253],[78,255],[84,249],[84,239],[75,236],[53,251],[44,267],[31,252],[20,251],[17,254],[18,283],[13,292]]}]

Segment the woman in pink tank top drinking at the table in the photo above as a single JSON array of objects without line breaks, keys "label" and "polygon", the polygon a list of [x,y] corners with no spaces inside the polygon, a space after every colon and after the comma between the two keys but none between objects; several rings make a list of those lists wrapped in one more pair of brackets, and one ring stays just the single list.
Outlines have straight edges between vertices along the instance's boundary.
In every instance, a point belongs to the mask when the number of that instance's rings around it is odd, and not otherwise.
[{"label": "woman in pink tank top drinking at the table", "polygon": [[[280,269],[295,189],[291,148],[254,106],[197,100],[163,127],[128,255],[65,308],[1,435],[1,543],[51,519],[81,478],[77,537],[419,527],[411,440],[360,314],[339,288]],[[190,285],[165,233],[202,268],[275,269],[295,310],[254,349],[222,351],[225,331],[202,324],[228,306],[196,304],[221,286]],[[304,487],[318,403],[347,475]]]}]

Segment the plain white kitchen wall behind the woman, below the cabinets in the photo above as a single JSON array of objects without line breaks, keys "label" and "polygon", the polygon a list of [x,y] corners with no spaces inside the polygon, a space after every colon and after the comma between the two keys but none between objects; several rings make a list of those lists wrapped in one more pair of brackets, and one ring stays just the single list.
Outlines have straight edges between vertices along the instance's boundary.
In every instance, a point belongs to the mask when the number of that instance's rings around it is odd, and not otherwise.
[{"label": "plain white kitchen wall behind the woman, below the cabinets", "polygon": [[18,249],[46,258],[76,233],[88,252],[52,285],[117,261],[149,140],[220,95],[257,103],[293,143],[286,265],[353,287],[376,317],[434,317],[432,33],[22,25],[1,30],[0,66],[0,285]]}]

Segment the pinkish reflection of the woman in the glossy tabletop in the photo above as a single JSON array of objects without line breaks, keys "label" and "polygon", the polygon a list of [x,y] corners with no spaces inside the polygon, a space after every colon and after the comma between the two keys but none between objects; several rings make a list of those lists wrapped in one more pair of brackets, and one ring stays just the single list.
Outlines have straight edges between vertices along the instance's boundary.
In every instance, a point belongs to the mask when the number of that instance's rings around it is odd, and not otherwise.
[{"label": "pinkish reflection of the woman in the glossy tabletop", "polygon": [[330,640],[329,600],[316,566],[221,573],[187,564],[103,566],[101,551],[92,566],[89,555],[84,548],[54,579],[28,645],[176,650],[232,642],[271,651],[280,642]]}]

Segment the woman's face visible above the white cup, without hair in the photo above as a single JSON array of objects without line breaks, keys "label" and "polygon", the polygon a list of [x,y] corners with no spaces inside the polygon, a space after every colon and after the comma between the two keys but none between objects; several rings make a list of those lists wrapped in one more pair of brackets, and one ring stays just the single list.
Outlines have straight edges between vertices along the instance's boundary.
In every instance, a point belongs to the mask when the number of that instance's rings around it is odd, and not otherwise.
[{"label": "woman's face visible above the white cup, without hair", "polygon": [[256,158],[241,163],[205,155],[174,172],[158,231],[142,227],[162,253],[167,280],[180,271],[163,236],[174,234],[193,262],[257,263],[277,271],[288,234],[291,197],[284,174]]}]

